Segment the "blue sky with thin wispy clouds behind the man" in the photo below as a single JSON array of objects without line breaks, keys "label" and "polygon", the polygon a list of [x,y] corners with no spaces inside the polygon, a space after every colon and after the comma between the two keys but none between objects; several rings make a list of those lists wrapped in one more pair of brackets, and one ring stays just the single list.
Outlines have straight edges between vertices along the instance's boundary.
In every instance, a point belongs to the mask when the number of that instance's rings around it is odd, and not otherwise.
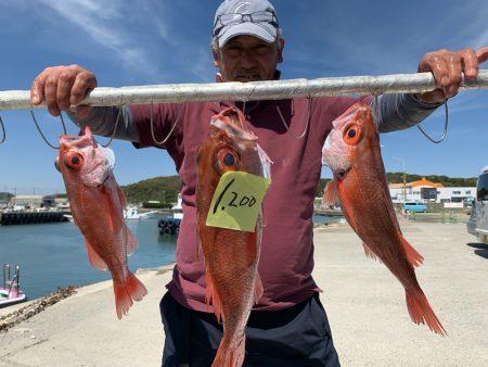
[{"label": "blue sky with thin wispy clouds behind the man", "polygon": [[[0,4],[0,90],[28,90],[52,65],[79,64],[101,87],[213,83],[209,48],[219,0],[3,0]],[[282,79],[415,73],[422,55],[441,48],[488,46],[486,0],[274,0],[285,39]],[[481,65],[488,68],[488,63]],[[449,105],[447,138],[429,142],[418,128],[382,135],[387,172],[475,177],[488,164],[488,91],[460,92]],[[0,111],[0,191],[65,192],[29,110]],[[36,110],[57,144],[59,118]],[[67,121],[67,118],[66,118]],[[444,109],[422,123],[441,136]],[[77,134],[67,121],[69,134]],[[0,132],[1,134],[1,132]],[[1,136],[0,136],[1,140]],[[104,138],[100,138],[105,143]],[[119,185],[176,175],[159,149],[114,141]],[[322,177],[331,177],[328,167]]]}]

